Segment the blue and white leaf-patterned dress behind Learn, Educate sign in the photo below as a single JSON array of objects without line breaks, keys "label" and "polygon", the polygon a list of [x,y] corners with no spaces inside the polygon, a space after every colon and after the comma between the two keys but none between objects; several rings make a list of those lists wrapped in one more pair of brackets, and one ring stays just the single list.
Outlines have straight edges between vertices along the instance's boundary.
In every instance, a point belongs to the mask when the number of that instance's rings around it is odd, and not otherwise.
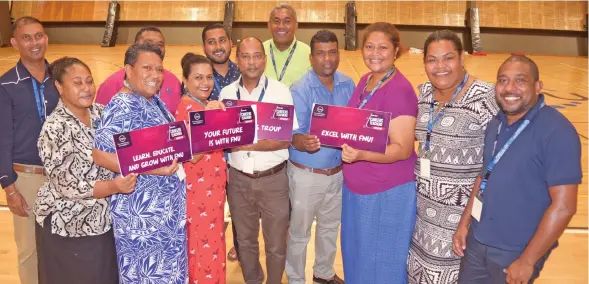
[{"label": "blue and white leaf-patterned dress behind Learn, Educate sign", "polygon": [[[163,105],[157,96],[117,94],[102,113],[94,146],[114,153],[113,134],[173,121],[158,102]],[[111,197],[111,214],[121,283],[188,282],[186,181],[177,174],[139,175],[133,193]]]}]

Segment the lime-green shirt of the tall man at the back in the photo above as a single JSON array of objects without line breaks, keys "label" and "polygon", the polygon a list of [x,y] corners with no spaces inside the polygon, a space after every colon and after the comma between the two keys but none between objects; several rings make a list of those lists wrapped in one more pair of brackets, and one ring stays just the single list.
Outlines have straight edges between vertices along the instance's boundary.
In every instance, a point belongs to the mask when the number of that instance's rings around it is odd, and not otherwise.
[{"label": "lime-green shirt of the tall man at the back", "polygon": [[[309,54],[311,54],[311,48],[306,45],[302,41],[297,41],[296,37],[292,41],[291,45],[285,49],[284,51],[280,51],[276,48],[273,39],[269,39],[264,42],[264,49],[266,51],[266,69],[264,74],[266,76],[278,80],[280,74],[282,73],[282,68],[286,63],[286,59],[290,55],[290,51],[292,50],[295,42],[297,43],[297,47],[292,54],[292,58],[290,59],[288,66],[286,67],[286,71],[284,72],[284,77],[280,81],[280,83],[290,87],[294,82],[298,81],[303,74],[305,74],[309,69],[311,69],[311,62],[309,61]],[[272,56],[270,55],[270,46],[272,46],[272,50],[274,53],[274,60],[276,61],[276,70],[274,70],[274,64],[272,63]]]}]

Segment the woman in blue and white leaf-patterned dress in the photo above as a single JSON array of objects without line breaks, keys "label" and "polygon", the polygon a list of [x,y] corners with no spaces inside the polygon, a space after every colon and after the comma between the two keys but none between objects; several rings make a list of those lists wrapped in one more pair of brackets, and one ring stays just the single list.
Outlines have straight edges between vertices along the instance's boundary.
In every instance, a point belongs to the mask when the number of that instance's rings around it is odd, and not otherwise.
[{"label": "woman in blue and white leaf-patterned dress", "polygon": [[[175,121],[158,95],[162,60],[161,51],[151,45],[127,49],[125,87],[105,107],[96,131],[93,154],[99,165],[120,173],[114,134]],[[140,174],[135,192],[112,196],[121,283],[187,282],[186,181],[181,169],[174,161]]]}]

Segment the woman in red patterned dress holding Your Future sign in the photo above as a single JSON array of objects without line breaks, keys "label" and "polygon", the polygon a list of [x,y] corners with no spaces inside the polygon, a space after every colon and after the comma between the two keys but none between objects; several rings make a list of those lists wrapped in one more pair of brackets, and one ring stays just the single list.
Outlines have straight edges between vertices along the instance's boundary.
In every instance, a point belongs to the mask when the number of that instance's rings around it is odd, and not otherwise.
[{"label": "woman in red patterned dress holding Your Future sign", "polygon": [[[189,113],[224,108],[208,101],[215,87],[213,64],[202,55],[182,57],[184,95],[176,119],[189,125]],[[190,283],[225,283],[225,184],[227,162],[222,150],[193,155],[186,168],[186,230]]]}]

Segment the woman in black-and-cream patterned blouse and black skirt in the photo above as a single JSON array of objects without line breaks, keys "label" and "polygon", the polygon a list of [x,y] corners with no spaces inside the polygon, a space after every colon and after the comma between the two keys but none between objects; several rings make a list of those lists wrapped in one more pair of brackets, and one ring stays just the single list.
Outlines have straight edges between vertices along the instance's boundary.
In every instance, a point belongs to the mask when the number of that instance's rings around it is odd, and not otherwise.
[{"label": "woman in black-and-cream patterned blouse and black skirt", "polygon": [[96,86],[88,66],[64,57],[49,70],[60,101],[38,141],[48,176],[34,208],[39,282],[116,284],[119,278],[107,198],[132,192],[136,175],[113,180],[112,172],[92,160],[103,106],[93,103]]}]

